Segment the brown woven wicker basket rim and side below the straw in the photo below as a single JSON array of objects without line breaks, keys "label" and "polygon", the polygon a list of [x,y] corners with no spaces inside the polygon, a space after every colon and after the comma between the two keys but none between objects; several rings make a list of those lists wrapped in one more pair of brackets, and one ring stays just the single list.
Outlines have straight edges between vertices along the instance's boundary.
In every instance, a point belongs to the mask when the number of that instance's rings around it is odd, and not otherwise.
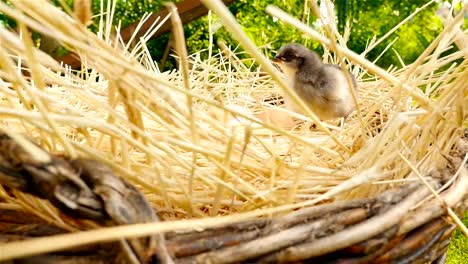
[{"label": "brown woven wicker basket rim and side below the straw", "polygon": [[[157,221],[144,196],[105,165],[56,156],[41,162],[25,150],[40,148],[22,144],[7,134],[0,137],[0,180],[9,192],[49,199],[64,214],[99,224]],[[467,150],[465,138],[452,151],[450,167],[434,171],[428,185],[402,185],[282,217],[29,256],[19,263],[444,263],[456,227],[447,208],[460,214],[468,206],[468,170],[461,164]],[[441,187],[457,168],[458,177],[440,194],[445,203],[427,198],[429,186]],[[2,242],[66,232],[26,212],[0,209]]]}]

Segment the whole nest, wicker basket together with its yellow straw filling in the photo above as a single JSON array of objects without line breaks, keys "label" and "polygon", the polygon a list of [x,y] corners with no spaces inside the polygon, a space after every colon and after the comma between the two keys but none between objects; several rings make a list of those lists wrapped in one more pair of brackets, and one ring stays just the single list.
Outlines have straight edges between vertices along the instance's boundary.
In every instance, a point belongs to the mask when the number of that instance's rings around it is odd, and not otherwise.
[{"label": "whole nest, wicker basket together with its yellow straw filling", "polygon": [[[208,60],[186,56],[175,12],[180,70],[160,73],[152,32],[130,49],[111,6],[94,35],[47,1],[0,2],[21,32],[0,28],[0,261],[423,263],[443,254],[454,222],[466,232],[462,12],[414,63],[385,71],[333,25],[318,33],[269,7],[359,87],[343,125],[304,109],[285,129],[259,117],[280,115],[290,88],[219,1],[203,2],[261,67],[222,44]],[[83,69],[34,48],[28,30]]]}]

